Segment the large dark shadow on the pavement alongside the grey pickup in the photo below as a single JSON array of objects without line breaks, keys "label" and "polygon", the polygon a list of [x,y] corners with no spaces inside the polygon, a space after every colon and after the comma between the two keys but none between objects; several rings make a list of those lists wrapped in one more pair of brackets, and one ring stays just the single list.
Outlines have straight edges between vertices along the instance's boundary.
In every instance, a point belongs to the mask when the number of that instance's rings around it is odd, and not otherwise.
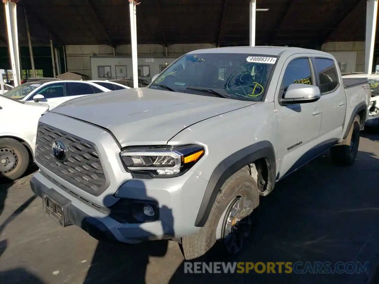
[{"label": "large dark shadow on the pavement alongside the grey pickup", "polygon": [[333,270],[340,261],[368,262],[366,273],[296,274],[285,273],[283,266],[282,273],[276,268],[276,273],[188,274],[183,261],[170,283],[366,283],[379,261],[378,158],[359,152],[354,166],[336,167],[325,154],[277,183],[273,193],[261,198],[249,247],[227,259],[302,262],[298,270],[306,262],[331,262]]}]

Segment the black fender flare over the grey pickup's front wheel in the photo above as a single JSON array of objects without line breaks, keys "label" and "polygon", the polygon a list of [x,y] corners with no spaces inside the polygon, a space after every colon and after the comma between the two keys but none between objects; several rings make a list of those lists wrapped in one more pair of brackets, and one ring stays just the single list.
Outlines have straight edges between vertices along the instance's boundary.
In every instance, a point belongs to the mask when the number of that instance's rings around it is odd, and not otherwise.
[{"label": "black fender flare over the grey pickup's front wheel", "polygon": [[272,187],[274,187],[276,177],[276,161],[274,147],[271,142],[263,140],[236,151],[229,157],[222,160],[213,171],[209,179],[207,189],[205,189],[199,212],[197,213],[195,221],[196,227],[202,227],[207,222],[218,192],[225,181],[233,175],[233,173],[261,158],[265,158],[270,164],[272,177],[270,182]]}]

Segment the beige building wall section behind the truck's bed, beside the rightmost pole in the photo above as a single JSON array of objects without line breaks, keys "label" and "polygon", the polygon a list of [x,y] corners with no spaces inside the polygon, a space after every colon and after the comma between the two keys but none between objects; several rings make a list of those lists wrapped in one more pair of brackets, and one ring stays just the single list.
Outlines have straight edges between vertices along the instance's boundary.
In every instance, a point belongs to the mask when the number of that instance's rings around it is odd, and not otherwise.
[{"label": "beige building wall section behind the truck's bed, beside the rightmost pole", "polygon": [[334,55],[341,67],[346,66],[345,72],[365,71],[364,41],[327,42],[321,50]]}]

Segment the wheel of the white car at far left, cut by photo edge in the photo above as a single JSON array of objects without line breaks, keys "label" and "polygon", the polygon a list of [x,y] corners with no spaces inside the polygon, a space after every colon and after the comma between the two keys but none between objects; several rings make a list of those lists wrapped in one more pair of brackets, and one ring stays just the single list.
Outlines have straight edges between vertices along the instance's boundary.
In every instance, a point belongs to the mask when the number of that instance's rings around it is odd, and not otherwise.
[{"label": "wheel of the white car at far left, cut by photo edge", "polygon": [[0,179],[16,180],[28,169],[28,150],[12,138],[0,139]]}]

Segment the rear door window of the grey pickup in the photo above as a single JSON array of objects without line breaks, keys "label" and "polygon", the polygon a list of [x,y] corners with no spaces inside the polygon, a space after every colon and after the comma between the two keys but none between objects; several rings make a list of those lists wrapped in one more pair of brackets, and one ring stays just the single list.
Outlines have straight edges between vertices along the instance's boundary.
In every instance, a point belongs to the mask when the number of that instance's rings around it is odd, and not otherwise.
[{"label": "rear door window of the grey pickup", "polygon": [[333,91],[338,86],[338,73],[334,61],[327,58],[315,58],[315,66],[320,80],[321,94]]}]

